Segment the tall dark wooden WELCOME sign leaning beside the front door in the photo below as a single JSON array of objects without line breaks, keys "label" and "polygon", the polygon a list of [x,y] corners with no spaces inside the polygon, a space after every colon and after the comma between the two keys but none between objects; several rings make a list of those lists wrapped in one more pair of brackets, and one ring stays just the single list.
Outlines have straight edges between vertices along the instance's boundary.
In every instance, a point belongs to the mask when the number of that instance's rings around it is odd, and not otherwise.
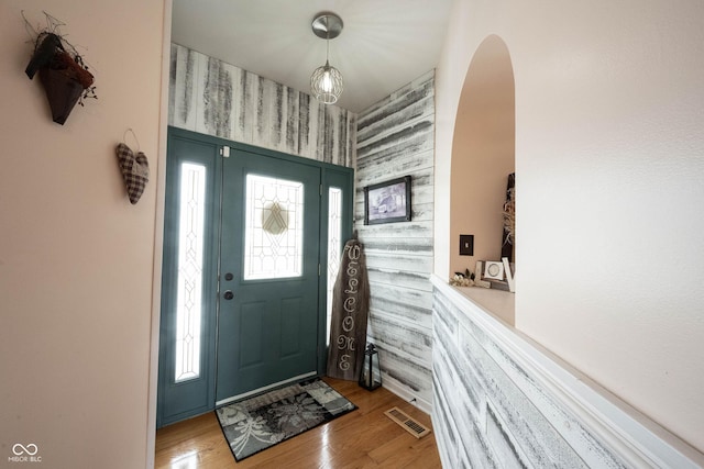
[{"label": "tall dark wooden WELCOME sign leaning beside the front door", "polygon": [[364,362],[370,287],[363,245],[344,244],[342,263],[332,291],[328,376],[356,381]]}]

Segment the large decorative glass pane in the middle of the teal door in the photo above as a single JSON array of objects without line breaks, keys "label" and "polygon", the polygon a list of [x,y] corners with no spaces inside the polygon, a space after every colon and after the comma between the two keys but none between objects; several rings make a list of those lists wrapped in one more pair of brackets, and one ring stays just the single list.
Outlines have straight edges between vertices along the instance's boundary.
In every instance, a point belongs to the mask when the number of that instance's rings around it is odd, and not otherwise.
[{"label": "large decorative glass pane in the middle of the teal door", "polygon": [[302,275],[304,185],[246,176],[244,280]]}]

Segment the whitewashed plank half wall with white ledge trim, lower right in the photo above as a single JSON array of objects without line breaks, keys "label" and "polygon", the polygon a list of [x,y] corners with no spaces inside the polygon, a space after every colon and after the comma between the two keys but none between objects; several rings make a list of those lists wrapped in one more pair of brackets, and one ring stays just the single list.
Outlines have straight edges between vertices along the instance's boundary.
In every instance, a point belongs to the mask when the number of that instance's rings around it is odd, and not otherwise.
[{"label": "whitewashed plank half wall with white ledge trim, lower right", "polygon": [[443,467],[701,467],[693,448],[446,280],[431,282],[432,421]]}]

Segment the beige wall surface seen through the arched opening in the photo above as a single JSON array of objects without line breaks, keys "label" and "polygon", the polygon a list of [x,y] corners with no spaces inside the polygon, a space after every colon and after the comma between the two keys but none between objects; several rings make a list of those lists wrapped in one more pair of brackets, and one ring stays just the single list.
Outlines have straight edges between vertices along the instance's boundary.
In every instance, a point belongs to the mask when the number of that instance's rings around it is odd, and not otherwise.
[{"label": "beige wall surface seen through the arched opening", "polygon": [[[452,142],[450,275],[475,270],[477,260],[501,260],[503,205],[516,168],[515,82],[510,55],[487,36],[468,69]],[[460,255],[460,235],[473,235],[472,255]],[[515,259],[514,259],[515,261]]]}]

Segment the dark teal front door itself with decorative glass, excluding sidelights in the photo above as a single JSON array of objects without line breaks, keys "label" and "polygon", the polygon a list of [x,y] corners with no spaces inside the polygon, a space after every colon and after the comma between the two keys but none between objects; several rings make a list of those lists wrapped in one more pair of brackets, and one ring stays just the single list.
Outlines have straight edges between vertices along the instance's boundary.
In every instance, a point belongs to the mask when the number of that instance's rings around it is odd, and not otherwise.
[{"label": "dark teal front door itself with decorative glass, excluding sidelights", "polygon": [[223,161],[217,401],[317,375],[320,176],[233,150]]}]

